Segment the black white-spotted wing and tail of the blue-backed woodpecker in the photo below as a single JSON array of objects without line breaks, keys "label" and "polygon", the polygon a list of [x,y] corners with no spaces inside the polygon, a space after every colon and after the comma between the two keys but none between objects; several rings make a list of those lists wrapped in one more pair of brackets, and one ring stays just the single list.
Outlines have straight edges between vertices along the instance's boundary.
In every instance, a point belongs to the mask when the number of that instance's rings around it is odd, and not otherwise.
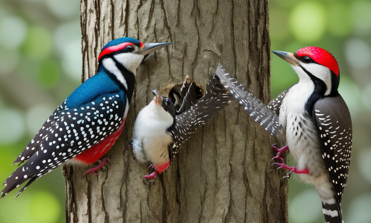
[{"label": "black white-spotted wing and tail of the blue-backed woodpecker", "polygon": [[67,107],[67,100],[60,104],[14,161],[28,159],[4,182],[0,199],[30,180],[18,196],[33,181],[115,132],[128,111],[128,100],[122,97],[122,93],[102,94],[79,108]]}]

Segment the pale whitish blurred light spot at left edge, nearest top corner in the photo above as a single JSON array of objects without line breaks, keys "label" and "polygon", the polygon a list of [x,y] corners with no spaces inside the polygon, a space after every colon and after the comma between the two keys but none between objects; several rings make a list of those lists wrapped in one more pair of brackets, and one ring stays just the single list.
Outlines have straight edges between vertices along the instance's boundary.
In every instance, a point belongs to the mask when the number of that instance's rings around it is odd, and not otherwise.
[{"label": "pale whitish blurred light spot at left edge, nearest top corner", "polygon": [[27,33],[26,23],[16,16],[5,17],[0,22],[0,44],[7,49],[19,47]]}]

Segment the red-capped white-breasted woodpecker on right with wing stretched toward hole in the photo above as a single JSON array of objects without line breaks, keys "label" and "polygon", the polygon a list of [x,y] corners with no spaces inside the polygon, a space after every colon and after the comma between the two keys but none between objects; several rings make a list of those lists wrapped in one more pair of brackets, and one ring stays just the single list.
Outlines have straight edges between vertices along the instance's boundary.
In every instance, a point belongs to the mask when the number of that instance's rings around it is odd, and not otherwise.
[{"label": "red-capped white-breasted woodpecker on right with wing stretched toward hole", "polygon": [[[328,51],[314,46],[295,53],[273,53],[289,62],[299,76],[299,83],[283,91],[267,108],[261,102],[256,106],[258,99],[237,81],[226,88],[272,135],[277,137],[285,130],[287,145],[281,149],[273,146],[277,153],[273,159],[281,161],[273,165],[289,170],[284,178],[293,172],[313,184],[322,201],[325,221],[342,223],[340,207],[351,159],[352,121],[338,92],[338,63]],[[298,164],[296,167],[288,167],[281,158],[287,150]]]}]

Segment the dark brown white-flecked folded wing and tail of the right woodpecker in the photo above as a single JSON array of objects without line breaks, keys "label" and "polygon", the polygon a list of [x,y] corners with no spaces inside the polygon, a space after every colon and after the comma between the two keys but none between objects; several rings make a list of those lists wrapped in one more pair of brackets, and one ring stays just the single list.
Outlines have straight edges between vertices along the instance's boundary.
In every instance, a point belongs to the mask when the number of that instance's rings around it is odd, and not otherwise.
[{"label": "dark brown white-flecked folded wing and tail of the right woodpecker", "polygon": [[342,220],[340,204],[347,185],[352,151],[351,117],[347,104],[339,95],[319,99],[313,106],[313,119],[318,132],[322,158],[334,187],[334,201],[336,201],[335,204],[322,201],[325,203],[322,204],[325,219],[331,223],[341,222],[339,221]]}]

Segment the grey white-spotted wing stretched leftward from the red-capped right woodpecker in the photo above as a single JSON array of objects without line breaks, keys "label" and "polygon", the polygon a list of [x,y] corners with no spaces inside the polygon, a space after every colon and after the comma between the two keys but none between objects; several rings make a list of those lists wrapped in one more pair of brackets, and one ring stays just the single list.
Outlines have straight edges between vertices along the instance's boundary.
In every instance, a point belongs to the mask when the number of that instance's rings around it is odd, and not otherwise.
[{"label": "grey white-spotted wing stretched leftward from the red-capped right woodpecker", "polygon": [[247,113],[249,113],[260,126],[278,138],[282,133],[282,126],[279,125],[278,116],[272,110],[269,110],[259,98],[250,93],[239,81],[230,77],[221,64],[219,64],[216,75]]}]

